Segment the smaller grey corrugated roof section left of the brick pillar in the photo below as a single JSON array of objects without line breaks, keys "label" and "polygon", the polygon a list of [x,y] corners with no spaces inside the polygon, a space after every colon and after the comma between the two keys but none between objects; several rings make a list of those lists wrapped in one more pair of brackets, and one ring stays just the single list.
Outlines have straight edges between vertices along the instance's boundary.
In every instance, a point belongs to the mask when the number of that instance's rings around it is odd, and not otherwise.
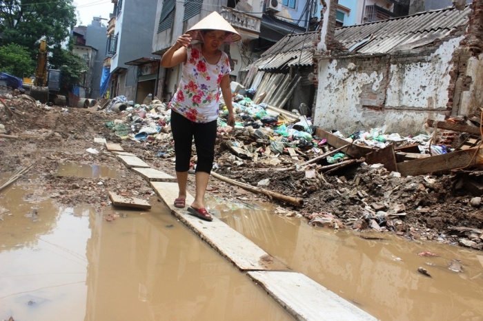
[{"label": "smaller grey corrugated roof section left of the brick pillar", "polygon": [[290,67],[293,65],[313,65],[313,51],[318,32],[303,34],[288,34],[268,49],[262,58],[257,60],[259,70],[270,70]]}]

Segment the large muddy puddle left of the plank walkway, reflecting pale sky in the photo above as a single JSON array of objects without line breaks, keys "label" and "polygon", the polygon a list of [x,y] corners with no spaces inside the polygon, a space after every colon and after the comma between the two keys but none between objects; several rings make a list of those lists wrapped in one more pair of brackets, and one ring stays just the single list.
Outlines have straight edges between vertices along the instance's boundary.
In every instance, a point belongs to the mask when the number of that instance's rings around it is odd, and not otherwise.
[{"label": "large muddy puddle left of the plank walkway, reflecting pale sky", "polygon": [[293,320],[155,198],[96,213],[28,193],[2,192],[0,320]]}]

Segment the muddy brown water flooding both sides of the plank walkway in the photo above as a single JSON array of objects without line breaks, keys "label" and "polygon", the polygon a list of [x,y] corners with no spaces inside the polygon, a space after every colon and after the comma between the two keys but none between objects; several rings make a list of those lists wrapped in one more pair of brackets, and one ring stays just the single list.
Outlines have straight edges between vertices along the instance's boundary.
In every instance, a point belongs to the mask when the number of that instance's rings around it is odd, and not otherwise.
[{"label": "muddy brown water flooding both sides of the plank walkway", "polygon": [[[166,207],[150,203],[150,211],[96,213],[52,207],[33,189],[4,189],[0,319],[293,320]],[[270,203],[210,197],[208,206],[293,271],[380,320],[483,320],[481,252],[311,227],[278,216]],[[437,256],[417,255],[423,251]],[[462,272],[448,269],[451,262]]]}]

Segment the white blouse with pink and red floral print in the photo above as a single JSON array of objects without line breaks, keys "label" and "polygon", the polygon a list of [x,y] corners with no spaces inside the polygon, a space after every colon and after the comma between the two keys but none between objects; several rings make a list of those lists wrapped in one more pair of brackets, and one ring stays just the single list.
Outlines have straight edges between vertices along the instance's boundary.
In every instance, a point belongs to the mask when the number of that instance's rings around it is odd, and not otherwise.
[{"label": "white blouse with pink and red floral print", "polygon": [[201,54],[201,44],[189,45],[187,51],[183,75],[169,106],[195,123],[215,121],[219,114],[219,84],[231,71],[228,55],[221,52],[219,61],[212,65]]}]

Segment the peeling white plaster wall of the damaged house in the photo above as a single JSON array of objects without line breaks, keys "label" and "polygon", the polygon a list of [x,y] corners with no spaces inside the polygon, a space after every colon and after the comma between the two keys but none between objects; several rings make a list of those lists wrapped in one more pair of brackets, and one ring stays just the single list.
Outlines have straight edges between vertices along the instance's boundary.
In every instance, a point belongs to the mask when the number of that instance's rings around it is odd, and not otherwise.
[{"label": "peeling white plaster wall of the damaged house", "polygon": [[420,54],[319,61],[314,125],[345,135],[383,125],[403,135],[423,132],[427,118],[444,119],[452,54],[461,39]]}]

